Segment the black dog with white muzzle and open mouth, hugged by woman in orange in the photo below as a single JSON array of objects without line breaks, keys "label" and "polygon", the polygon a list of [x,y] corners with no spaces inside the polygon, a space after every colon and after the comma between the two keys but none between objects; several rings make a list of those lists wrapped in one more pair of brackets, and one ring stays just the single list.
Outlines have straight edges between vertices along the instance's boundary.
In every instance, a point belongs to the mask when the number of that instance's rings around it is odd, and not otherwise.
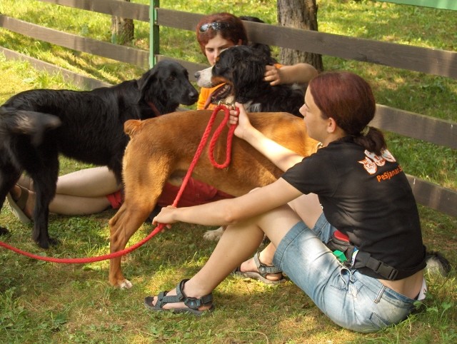
[{"label": "black dog with white muzzle and open mouth, hugged by woman in orange", "polygon": [[263,81],[266,65],[275,61],[266,49],[232,46],[221,52],[216,64],[195,74],[197,84],[211,88],[225,83],[211,94],[211,103],[243,103],[250,112],[288,112],[301,117],[303,88],[295,85],[271,86]]}]

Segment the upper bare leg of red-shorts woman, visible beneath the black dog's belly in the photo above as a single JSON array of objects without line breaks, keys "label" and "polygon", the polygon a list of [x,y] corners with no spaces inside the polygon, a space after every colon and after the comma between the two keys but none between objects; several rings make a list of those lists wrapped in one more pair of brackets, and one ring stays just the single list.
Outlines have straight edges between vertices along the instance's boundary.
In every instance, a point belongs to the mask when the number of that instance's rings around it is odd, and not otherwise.
[{"label": "upper bare leg of red-shorts woman, visible beneath the black dog's belly", "polygon": [[[18,184],[34,191],[33,182],[28,177],[21,177]],[[106,196],[120,189],[121,185],[117,183],[114,173],[109,171],[106,166],[99,166],[85,168],[64,174],[64,176],[59,176],[56,195],[62,194],[91,198]]]}]

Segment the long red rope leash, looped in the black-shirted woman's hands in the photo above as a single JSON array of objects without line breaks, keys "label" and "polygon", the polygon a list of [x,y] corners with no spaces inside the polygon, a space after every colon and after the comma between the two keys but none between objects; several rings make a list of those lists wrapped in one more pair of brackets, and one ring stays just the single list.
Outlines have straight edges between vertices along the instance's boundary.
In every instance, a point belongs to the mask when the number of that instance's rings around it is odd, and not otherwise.
[{"label": "long red rope leash, looped in the black-shirted woman's hands", "polygon": [[[226,161],[224,161],[224,163],[222,163],[222,164],[219,164],[214,160],[214,146],[216,146],[216,141],[219,138],[219,136],[221,135],[221,132],[224,130],[224,126],[226,126],[226,123],[229,121],[229,117],[230,117],[229,108],[224,105],[219,105],[216,108],[214,108],[214,111],[211,114],[211,117],[209,118],[208,125],[206,126],[204,134],[201,138],[199,147],[196,150],[194,159],[192,160],[191,165],[189,166],[189,170],[187,171],[186,176],[183,179],[183,183],[181,184],[181,188],[179,188],[176,198],[174,199],[174,202],[173,202],[174,207],[176,207],[178,205],[179,200],[181,199],[181,195],[183,194],[184,189],[186,188],[187,183],[189,182],[189,178],[191,178],[192,172],[194,171],[194,168],[201,156],[201,152],[203,151],[204,147],[206,146],[206,142],[208,141],[209,134],[211,133],[211,128],[213,127],[213,123],[216,120],[216,115],[220,110],[224,110],[225,116],[224,116],[223,121],[219,125],[219,127],[216,129],[216,131],[214,131],[213,137],[211,138],[210,145],[209,145],[209,160],[211,161],[213,166],[216,168],[226,168],[227,166],[229,166],[229,163],[231,160],[231,142],[232,142],[232,138],[233,138],[233,133],[236,128],[236,124],[232,124],[230,126],[229,133],[227,135]],[[238,113],[239,113],[239,110],[238,110],[238,108],[236,108],[237,116],[238,116]],[[156,228],[154,228],[154,231],[149,233],[149,236],[146,236],[146,238],[144,238],[143,240],[139,241],[138,243],[130,246],[129,248],[124,248],[124,250],[122,250],[122,251],[109,253],[109,254],[106,254],[103,256],[89,257],[89,258],[52,258],[52,257],[38,256],[33,253],[21,251],[21,250],[19,250],[19,248],[10,246],[7,243],[4,243],[2,241],[0,241],[0,246],[3,246],[4,248],[8,248],[11,251],[19,253],[23,256],[27,256],[29,258],[34,258],[37,260],[44,260],[44,261],[51,262],[51,263],[66,263],[66,264],[94,263],[94,262],[98,262],[101,260],[107,260],[107,259],[124,256],[127,253],[130,253],[131,251],[136,250],[136,248],[143,246],[144,243],[146,243],[153,236],[155,236],[157,233],[162,231],[165,226],[166,226],[165,223],[159,223],[156,226]]]}]

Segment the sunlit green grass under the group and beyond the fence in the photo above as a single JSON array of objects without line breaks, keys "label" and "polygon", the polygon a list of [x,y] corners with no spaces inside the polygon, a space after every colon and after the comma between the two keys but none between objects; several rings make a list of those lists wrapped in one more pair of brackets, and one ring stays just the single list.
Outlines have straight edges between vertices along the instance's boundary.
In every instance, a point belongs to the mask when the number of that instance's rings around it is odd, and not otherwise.
[{"label": "sunlit green grass under the group and beyond the fence", "polygon": [[[134,1],[149,4],[148,0]],[[319,30],[368,39],[456,50],[455,13],[372,1],[318,1]],[[179,11],[259,16],[276,22],[276,1],[161,1]],[[2,0],[0,13],[54,29],[109,41],[110,17],[39,1]],[[149,27],[136,22],[133,45],[147,49]],[[24,52],[102,81],[117,83],[139,76],[135,66],[61,49],[0,29],[0,45]],[[194,33],[161,29],[161,51],[204,63]],[[323,58],[327,70],[347,69],[373,85],[378,103],[457,121],[457,81],[385,66]],[[59,75],[49,75],[25,62],[0,56],[0,103],[30,88],[74,88]],[[389,148],[409,174],[457,190],[456,150],[388,134]],[[61,159],[61,173],[85,168]],[[457,261],[457,219],[420,207],[423,238],[431,250]],[[24,226],[4,206],[0,223],[11,230],[1,238],[24,251],[69,258],[109,252],[108,220],[114,211],[92,216],[51,214],[49,232],[61,245],[42,251]],[[457,340],[456,272],[448,278],[427,277],[430,293],[422,310],[380,333],[362,335],[341,330],[292,283],[276,287],[227,278],[215,290],[217,311],[202,318],[152,314],[145,295],[167,290],[204,264],[214,243],[202,240],[207,228],[181,223],[129,254],[124,273],[131,290],[111,288],[106,261],[64,265],[31,260],[0,249],[1,343],[453,343]],[[144,225],[131,238],[140,241],[151,231]]]}]

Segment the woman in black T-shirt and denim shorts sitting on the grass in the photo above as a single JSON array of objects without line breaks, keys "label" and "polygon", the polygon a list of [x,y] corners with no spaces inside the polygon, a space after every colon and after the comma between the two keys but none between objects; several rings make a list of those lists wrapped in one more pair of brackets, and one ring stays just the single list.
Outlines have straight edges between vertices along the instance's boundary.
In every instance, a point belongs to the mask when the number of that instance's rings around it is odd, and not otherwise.
[{"label": "woman in black T-shirt and denim shorts sitting on the grass", "polygon": [[[275,265],[334,323],[372,332],[405,319],[424,297],[425,247],[408,179],[381,131],[368,126],[376,110],[368,83],[348,72],[310,81],[300,111],[321,148],[307,158],[257,131],[236,106],[235,135],[286,172],[238,198],[163,208],[154,224],[228,226],[194,277],[147,297],[146,307],[194,314],[214,309],[214,288],[266,234],[276,248]],[[344,263],[326,246],[337,236],[352,246]]]}]

